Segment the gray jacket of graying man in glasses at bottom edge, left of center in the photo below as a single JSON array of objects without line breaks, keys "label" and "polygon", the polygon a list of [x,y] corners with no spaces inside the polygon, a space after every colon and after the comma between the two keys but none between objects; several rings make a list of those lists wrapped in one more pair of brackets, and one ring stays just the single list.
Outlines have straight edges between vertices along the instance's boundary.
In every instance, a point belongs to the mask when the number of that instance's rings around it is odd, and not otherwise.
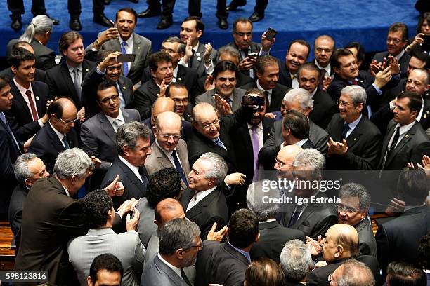
[{"label": "gray jacket of graying man in glasses at bottom edge, left of center", "polygon": [[188,286],[187,283],[176,274],[158,256],[155,256],[145,266],[141,278],[141,286]]}]

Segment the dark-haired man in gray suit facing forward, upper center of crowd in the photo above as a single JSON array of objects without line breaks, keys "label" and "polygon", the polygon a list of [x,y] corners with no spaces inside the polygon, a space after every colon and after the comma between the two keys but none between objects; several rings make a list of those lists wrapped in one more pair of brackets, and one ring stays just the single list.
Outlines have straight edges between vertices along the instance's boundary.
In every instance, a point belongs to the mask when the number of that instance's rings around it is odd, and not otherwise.
[{"label": "dark-haired man in gray suit facing forward, upper center of crowd", "polygon": [[207,102],[216,107],[214,95],[219,95],[230,105],[234,112],[239,109],[246,90],[236,88],[237,67],[229,60],[223,60],[214,68],[214,89],[195,97],[195,103]]}]

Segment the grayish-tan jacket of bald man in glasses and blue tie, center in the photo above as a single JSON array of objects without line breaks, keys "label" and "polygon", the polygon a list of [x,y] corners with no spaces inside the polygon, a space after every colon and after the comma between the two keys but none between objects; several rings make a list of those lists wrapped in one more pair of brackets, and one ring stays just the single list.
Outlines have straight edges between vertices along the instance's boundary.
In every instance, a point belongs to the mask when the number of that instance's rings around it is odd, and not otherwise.
[{"label": "grayish-tan jacket of bald man in glasses and blue tie, center", "polygon": [[[176,168],[156,142],[152,143],[151,149],[152,153],[145,161],[145,168],[148,171],[148,175],[152,175],[162,168]],[[190,163],[188,162],[187,144],[183,139],[179,139],[179,142],[176,145],[176,153],[178,154],[179,161],[181,161],[183,173],[185,174],[185,177],[187,177],[190,172]],[[186,189],[188,182],[183,182],[181,179],[181,186],[183,189]]]}]

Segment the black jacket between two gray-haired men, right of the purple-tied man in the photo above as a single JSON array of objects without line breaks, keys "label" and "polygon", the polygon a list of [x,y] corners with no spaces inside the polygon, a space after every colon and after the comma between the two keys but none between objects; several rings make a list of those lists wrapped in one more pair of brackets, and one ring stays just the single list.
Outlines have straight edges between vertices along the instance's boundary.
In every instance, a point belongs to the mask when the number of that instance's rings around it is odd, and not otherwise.
[{"label": "black jacket between two gray-haired men, right of the purple-tied man", "polygon": [[317,89],[315,95],[313,95],[313,109],[309,114],[309,119],[313,121],[320,128],[327,128],[333,114],[338,113],[339,109],[337,104],[334,103],[332,97],[328,95],[324,90]]}]

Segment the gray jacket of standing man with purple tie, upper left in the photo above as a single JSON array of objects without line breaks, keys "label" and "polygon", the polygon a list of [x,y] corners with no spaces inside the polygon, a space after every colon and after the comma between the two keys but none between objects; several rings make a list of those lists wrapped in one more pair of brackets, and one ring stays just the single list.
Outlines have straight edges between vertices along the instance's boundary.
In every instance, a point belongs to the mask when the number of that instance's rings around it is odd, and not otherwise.
[{"label": "gray jacket of standing man with purple tie, upper left", "polygon": [[[97,37],[100,36],[100,33]],[[93,48],[93,44],[89,45],[85,49],[85,53],[88,54],[87,57],[90,59],[94,58],[94,52],[91,50]],[[152,43],[150,40],[146,39],[144,36],[133,33],[133,54],[136,55],[136,59],[131,63],[129,74],[127,77],[133,81],[133,84],[138,83],[141,80],[143,69],[148,66],[148,60],[152,49]],[[101,46],[100,50],[117,50],[121,51],[121,45],[119,44],[119,40],[112,39],[109,40]],[[122,67],[122,74],[124,74],[124,67]]]}]

